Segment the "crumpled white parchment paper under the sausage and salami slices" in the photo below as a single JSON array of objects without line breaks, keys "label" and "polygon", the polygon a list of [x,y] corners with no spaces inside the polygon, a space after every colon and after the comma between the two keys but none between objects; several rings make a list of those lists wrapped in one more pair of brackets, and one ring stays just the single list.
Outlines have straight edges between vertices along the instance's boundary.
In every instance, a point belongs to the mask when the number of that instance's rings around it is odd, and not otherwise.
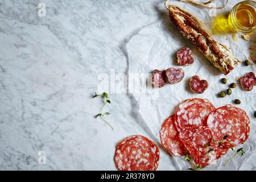
[{"label": "crumpled white parchment paper under the sausage and salami slices", "polygon": [[[237,2],[240,1],[232,1],[232,3],[229,3],[229,5],[224,9],[217,10],[217,13],[219,14],[229,11]],[[209,9],[200,9],[199,7],[184,3],[179,3],[179,5],[190,13],[196,15],[197,18],[203,20],[203,22],[206,22],[210,27],[214,17],[210,17],[208,13]],[[224,167],[222,164],[224,164],[224,162],[234,154],[232,150],[229,150],[228,154],[223,156],[221,159],[216,160],[216,162],[205,169],[240,169],[242,163],[245,162],[246,159],[249,159],[256,147],[256,119],[254,118],[254,110],[256,110],[256,88],[250,92],[245,92],[236,81],[236,78],[245,75],[247,72],[253,71],[256,73],[255,64],[250,65],[249,67],[245,67],[243,64],[238,65],[232,73],[229,73],[229,75],[226,76],[226,78],[228,78],[228,84],[222,84],[220,79],[225,76],[180,34],[169,19],[168,11],[165,9],[159,10],[159,14],[162,14],[160,20],[142,28],[142,30],[139,31],[137,35],[134,35],[127,44],[127,51],[129,55],[129,90],[134,90],[134,88],[132,88],[134,85],[130,83],[131,77],[136,77],[137,75],[139,81],[135,83],[135,85],[137,84],[137,86],[143,87],[146,85],[146,82],[143,77],[139,77],[138,75],[151,73],[154,69],[163,70],[170,67],[182,68],[185,72],[185,77],[181,82],[175,85],[167,84],[163,88],[153,88],[154,90],[152,90],[150,76],[147,76],[148,85],[146,86],[146,91],[143,89],[143,91],[139,93],[131,91],[133,92],[135,100],[138,101],[139,114],[141,114],[144,122],[146,122],[147,126],[152,131],[152,134],[154,134],[160,142],[159,130],[162,122],[168,117],[168,115],[174,114],[176,107],[182,101],[188,98],[208,98],[214,106],[220,107],[226,104],[235,105],[233,101],[236,98],[239,98],[242,103],[236,106],[245,110],[251,119],[250,137],[245,144],[241,145],[241,147],[244,147],[244,150],[246,151],[245,155],[242,157],[236,156],[236,158]],[[249,47],[254,41],[251,40],[250,42],[246,42],[240,38],[239,34],[237,34],[237,42],[232,39],[231,34],[213,35],[213,37],[218,42],[230,48],[232,53],[240,60],[244,60],[249,56]],[[184,46],[192,48],[193,57],[195,58],[194,63],[188,67],[181,67],[176,64],[175,53],[179,48]],[[209,88],[203,94],[192,93],[189,89],[188,80],[193,75],[198,75],[201,79],[208,81]],[[237,88],[232,89],[233,93],[225,98],[218,97],[218,93],[222,90],[228,89],[228,85],[232,82],[237,83]],[[154,94],[152,94],[153,92]],[[188,167],[191,167],[191,164],[186,162],[183,157],[172,157],[170,160],[174,160],[181,170],[186,170]]]}]

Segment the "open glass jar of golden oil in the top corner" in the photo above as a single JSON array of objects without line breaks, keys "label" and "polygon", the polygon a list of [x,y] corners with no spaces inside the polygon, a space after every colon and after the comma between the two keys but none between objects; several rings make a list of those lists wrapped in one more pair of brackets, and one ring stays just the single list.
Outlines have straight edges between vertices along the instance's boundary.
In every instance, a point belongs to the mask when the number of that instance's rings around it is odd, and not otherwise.
[{"label": "open glass jar of golden oil in the top corner", "polygon": [[229,27],[234,32],[249,33],[256,28],[256,2],[237,3],[229,13]]}]

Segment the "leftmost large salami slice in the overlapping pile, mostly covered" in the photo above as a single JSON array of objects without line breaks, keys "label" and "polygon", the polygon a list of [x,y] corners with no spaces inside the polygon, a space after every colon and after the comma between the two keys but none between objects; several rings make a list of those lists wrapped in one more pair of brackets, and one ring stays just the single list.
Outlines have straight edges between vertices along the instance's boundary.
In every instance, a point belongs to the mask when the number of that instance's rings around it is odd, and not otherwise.
[{"label": "leftmost large salami slice in the overlapping pile, mostly covered", "polygon": [[174,156],[183,156],[188,151],[180,141],[179,133],[174,125],[174,115],[166,118],[160,130],[162,145]]}]

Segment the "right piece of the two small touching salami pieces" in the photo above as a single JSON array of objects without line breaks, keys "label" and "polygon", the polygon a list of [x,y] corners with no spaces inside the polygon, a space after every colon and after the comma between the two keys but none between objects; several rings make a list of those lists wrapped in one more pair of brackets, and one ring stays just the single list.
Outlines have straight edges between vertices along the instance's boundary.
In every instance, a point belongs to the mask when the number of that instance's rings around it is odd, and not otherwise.
[{"label": "right piece of the two small touching salami pieces", "polygon": [[184,77],[184,71],[181,68],[168,68],[166,70],[166,78],[169,84],[180,82]]}]

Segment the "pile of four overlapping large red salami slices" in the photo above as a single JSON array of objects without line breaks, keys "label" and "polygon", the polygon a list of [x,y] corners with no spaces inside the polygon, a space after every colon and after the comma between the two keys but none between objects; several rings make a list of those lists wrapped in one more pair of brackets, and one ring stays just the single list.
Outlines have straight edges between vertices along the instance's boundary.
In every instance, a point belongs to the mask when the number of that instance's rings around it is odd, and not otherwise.
[{"label": "pile of four overlapping large red salami slices", "polygon": [[205,167],[245,142],[249,133],[250,119],[242,109],[216,108],[207,99],[191,98],[163,122],[160,140],[172,155],[189,155],[193,163]]}]

